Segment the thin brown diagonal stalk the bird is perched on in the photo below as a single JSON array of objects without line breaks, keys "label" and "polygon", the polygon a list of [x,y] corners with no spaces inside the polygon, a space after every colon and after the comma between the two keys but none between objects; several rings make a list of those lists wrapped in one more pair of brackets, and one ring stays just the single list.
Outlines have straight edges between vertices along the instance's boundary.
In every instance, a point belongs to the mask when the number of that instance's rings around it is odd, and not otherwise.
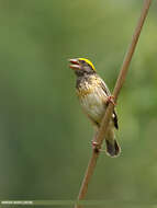
[{"label": "thin brown diagonal stalk the bird is perched on", "polygon": [[[135,32],[133,34],[131,45],[128,46],[128,49],[126,50],[126,55],[124,57],[124,61],[122,63],[121,71],[120,71],[120,74],[117,77],[114,90],[113,90],[113,97],[114,97],[115,103],[117,101],[117,96],[119,96],[120,91],[121,91],[123,83],[125,81],[126,73],[128,70],[128,66],[130,66],[130,62],[132,60],[133,54],[135,51],[136,44],[137,44],[139,34],[141,34],[143,24],[145,22],[146,16],[147,16],[150,3],[152,3],[152,0],[144,0],[144,5],[143,5],[142,12],[141,12],[139,20],[137,22],[137,26],[136,26]],[[108,124],[109,124],[109,120],[111,119],[111,115],[113,113],[113,108],[114,108],[114,105],[112,103],[110,103],[108,108],[106,108],[105,115],[102,119],[100,129],[99,129],[97,137],[94,139],[98,142],[98,149],[100,149],[102,146],[102,142],[103,142],[103,139],[105,137],[106,129],[108,129]],[[89,185],[90,178],[93,174],[99,154],[100,154],[100,151],[96,151],[96,150],[92,151],[92,155],[91,155],[91,159],[89,160],[87,171],[85,173],[85,177],[83,177],[83,181],[82,181],[82,184],[80,187],[78,200],[83,199],[86,194],[87,194],[88,185]],[[79,204],[76,204],[76,206],[75,206],[75,208],[80,208],[80,207],[81,207],[81,205],[79,205]]]}]

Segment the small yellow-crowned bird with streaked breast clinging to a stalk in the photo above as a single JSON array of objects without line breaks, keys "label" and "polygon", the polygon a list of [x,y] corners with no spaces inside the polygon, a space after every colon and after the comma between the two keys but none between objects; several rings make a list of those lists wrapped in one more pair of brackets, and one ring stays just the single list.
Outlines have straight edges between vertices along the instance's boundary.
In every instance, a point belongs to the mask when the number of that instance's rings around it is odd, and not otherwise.
[{"label": "small yellow-crowned bird with streaked breast clinging to a stalk", "polygon": [[[76,91],[83,112],[87,114],[92,124],[99,129],[106,106],[111,101],[111,93],[104,81],[96,72],[92,62],[86,58],[69,59],[70,68],[77,77]],[[120,146],[115,140],[114,128],[117,126],[117,116],[115,111],[109,123],[105,137],[106,154],[117,157]],[[93,142],[93,146],[96,143]]]}]

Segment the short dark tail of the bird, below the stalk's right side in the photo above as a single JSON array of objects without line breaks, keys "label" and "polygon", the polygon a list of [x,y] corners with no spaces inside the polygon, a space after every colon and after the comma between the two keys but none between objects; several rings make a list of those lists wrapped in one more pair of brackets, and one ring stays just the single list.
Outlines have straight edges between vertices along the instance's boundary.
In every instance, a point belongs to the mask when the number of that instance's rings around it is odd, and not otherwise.
[{"label": "short dark tail of the bird, below the stalk's right side", "polygon": [[114,140],[105,139],[105,147],[106,147],[106,154],[112,158],[117,157],[121,152],[121,148],[115,139]]}]

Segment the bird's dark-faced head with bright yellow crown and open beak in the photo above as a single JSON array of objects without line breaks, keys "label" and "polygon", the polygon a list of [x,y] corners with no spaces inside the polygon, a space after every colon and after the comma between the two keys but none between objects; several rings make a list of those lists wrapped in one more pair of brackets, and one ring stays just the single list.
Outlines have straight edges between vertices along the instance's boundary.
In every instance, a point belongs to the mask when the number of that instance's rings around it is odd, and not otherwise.
[{"label": "bird's dark-faced head with bright yellow crown and open beak", "polygon": [[76,76],[81,77],[85,74],[96,73],[96,68],[87,58],[69,59],[70,68],[75,71]]}]

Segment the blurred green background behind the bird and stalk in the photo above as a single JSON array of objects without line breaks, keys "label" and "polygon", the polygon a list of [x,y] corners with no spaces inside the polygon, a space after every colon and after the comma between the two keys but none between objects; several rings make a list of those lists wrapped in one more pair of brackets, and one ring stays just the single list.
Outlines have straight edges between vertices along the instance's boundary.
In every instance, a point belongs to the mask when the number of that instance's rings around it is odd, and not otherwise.
[{"label": "blurred green background behind the bird and stalk", "polygon": [[[112,91],[143,0],[0,4],[0,199],[76,199],[93,128],[67,59],[91,59]],[[101,154],[87,199],[157,198],[156,11],[154,1],[116,107],[122,154]]]}]

